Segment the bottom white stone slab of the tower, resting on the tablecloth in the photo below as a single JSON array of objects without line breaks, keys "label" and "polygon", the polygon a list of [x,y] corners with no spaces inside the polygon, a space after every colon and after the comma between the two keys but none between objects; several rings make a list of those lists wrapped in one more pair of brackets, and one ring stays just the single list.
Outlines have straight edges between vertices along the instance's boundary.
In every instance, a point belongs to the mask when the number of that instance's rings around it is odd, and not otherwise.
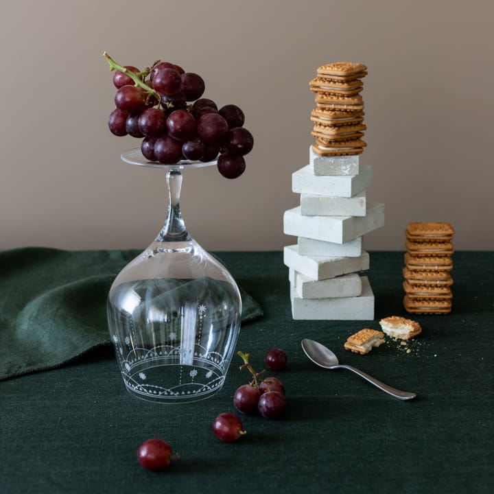
[{"label": "bottom white stone slab of the tower, resting on the tablecloth", "polygon": [[296,320],[373,320],[374,294],[362,277],[362,294],[346,298],[301,298],[291,290],[292,317]]}]

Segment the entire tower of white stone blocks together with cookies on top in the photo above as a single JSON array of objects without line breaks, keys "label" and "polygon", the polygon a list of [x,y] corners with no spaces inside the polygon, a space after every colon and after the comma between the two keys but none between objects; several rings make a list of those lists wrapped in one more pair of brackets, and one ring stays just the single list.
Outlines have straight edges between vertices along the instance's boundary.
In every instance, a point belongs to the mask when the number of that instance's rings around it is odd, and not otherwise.
[{"label": "entire tower of white stone blocks together with cookies on top", "polygon": [[319,67],[309,83],[316,93],[316,142],[309,165],[292,174],[300,206],[283,216],[284,233],[298,237],[283,251],[294,319],[374,318],[374,294],[368,278],[360,276],[369,268],[362,236],[384,224],[384,204],[366,200],[372,167],[360,165],[366,73],[363,64],[337,62]]}]

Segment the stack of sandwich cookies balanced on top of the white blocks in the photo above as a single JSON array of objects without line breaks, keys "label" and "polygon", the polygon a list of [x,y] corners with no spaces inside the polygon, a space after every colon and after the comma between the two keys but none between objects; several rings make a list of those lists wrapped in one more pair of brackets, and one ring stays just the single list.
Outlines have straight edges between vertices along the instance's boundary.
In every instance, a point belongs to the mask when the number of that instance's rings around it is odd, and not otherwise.
[{"label": "stack of sandwich cookies balanced on top of the white blocks", "polygon": [[316,138],[312,149],[320,156],[362,154],[366,126],[360,93],[366,74],[364,64],[333,62],[319,67],[317,77],[309,82],[316,93],[316,108],[311,113],[311,134]]}]

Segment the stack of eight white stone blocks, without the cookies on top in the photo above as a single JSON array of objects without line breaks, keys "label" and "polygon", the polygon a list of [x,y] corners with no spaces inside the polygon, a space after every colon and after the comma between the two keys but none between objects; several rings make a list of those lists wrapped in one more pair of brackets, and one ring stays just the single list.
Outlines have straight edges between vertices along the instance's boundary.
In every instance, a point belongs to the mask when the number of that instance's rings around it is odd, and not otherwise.
[{"label": "stack of eight white stone blocks, without the cookies on top", "polygon": [[319,156],[292,175],[300,206],[285,211],[285,235],[298,237],[285,246],[294,319],[371,320],[374,294],[361,272],[369,268],[362,236],[384,225],[384,204],[368,202],[371,165],[359,155]]}]

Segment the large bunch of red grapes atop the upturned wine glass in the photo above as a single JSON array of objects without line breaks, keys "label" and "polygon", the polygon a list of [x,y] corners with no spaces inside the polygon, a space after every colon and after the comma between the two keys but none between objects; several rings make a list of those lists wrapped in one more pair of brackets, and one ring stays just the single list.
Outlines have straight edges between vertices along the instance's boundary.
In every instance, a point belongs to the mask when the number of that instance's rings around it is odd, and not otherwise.
[{"label": "large bunch of red grapes atop the upturned wine glass", "polygon": [[244,127],[244,112],[234,104],[218,108],[202,97],[200,75],[170,62],[154,62],[139,71],[104,54],[114,70],[115,110],[108,118],[110,132],[143,139],[141,152],[149,161],[173,165],[181,160],[213,161],[226,178],[244,173],[244,156],[254,145]]}]

